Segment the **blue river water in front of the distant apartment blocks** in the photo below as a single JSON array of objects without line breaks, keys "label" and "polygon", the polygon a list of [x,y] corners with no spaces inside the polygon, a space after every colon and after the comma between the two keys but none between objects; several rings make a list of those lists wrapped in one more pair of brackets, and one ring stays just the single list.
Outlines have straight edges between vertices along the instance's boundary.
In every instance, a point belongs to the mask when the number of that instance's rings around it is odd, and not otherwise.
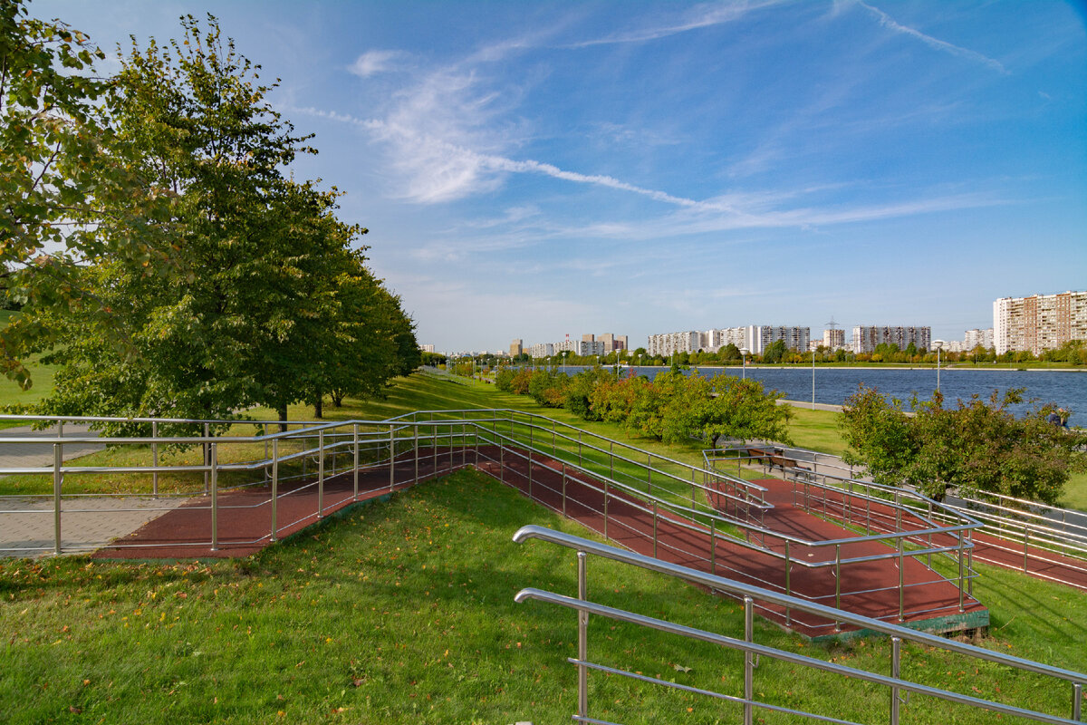
[{"label": "blue river water in front of the distant apartment blocks", "polygon": [[[567,365],[564,368],[574,374],[583,367]],[[637,367],[630,370],[637,375],[655,377],[667,367]],[[748,375],[761,380],[766,389],[785,393],[789,400],[811,401],[812,368],[800,365],[789,367],[751,367],[746,371],[734,367],[692,368],[697,373],[712,377],[721,373]],[[936,389],[936,370],[902,368],[902,367],[816,367],[815,368],[815,402],[840,405],[846,398],[857,392],[857,387],[863,383],[867,387],[878,388],[886,396],[900,399],[909,409],[910,399],[914,395],[919,400],[929,400]],[[1070,425],[1087,426],[1087,371],[1054,371],[1054,370],[977,370],[944,367],[940,370],[940,391],[945,404],[953,404],[957,399],[969,400],[978,395],[988,399],[996,389],[1003,393],[1009,388],[1025,388],[1024,398],[1039,403],[1055,403],[1060,408],[1072,411]],[[1016,413],[1028,410],[1029,404],[1012,408]]]}]

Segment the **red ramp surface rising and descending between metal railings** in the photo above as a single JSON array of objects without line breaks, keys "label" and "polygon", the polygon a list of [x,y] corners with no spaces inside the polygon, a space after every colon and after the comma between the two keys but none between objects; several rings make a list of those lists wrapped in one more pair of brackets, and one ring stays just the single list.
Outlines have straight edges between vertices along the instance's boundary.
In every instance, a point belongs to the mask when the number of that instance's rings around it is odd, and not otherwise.
[{"label": "red ramp surface rising and descending between metal railings", "polygon": [[[500,461],[501,459],[501,461]],[[620,546],[639,553],[655,555],[692,568],[710,572],[755,586],[785,591],[785,566],[780,558],[717,539],[712,546],[707,529],[691,528],[664,513],[655,517],[657,542],[654,547],[654,516],[634,499],[610,491],[604,520],[604,497],[595,490],[602,484],[584,474],[563,473],[563,464],[549,459],[533,458],[532,472],[524,454],[503,454],[498,448],[480,449],[478,460],[474,450],[424,450],[417,463],[414,454],[401,457],[393,466],[390,485],[388,466],[359,472],[359,496],[354,496],[352,473],[339,474],[324,482],[321,496],[322,515],[328,516],[355,502],[387,496],[392,489],[413,485],[435,475],[443,475],[465,465],[476,465],[480,471],[503,480],[525,495],[565,513],[586,527],[605,534]],[[417,478],[416,478],[417,466]],[[580,480],[574,475],[580,476]],[[759,482],[770,489],[769,499],[775,508],[764,521],[766,528],[779,534],[790,534],[804,539],[833,540],[853,537],[852,532],[814,516],[792,504],[792,485],[776,479]],[[565,497],[563,497],[565,492]],[[186,559],[246,557],[260,551],[271,541],[271,490],[253,487],[218,495],[218,546],[212,551],[210,497],[192,499],[186,505],[164,513],[136,533],[117,539],[113,546],[97,552],[103,559]],[[317,522],[318,490],[313,482],[280,486],[277,503],[277,539],[297,533]],[[607,530],[605,530],[607,526]],[[947,538],[947,537],[946,537]],[[980,538],[980,537],[978,537]],[[934,540],[934,545],[940,542]],[[975,558],[992,547],[977,541]],[[1001,546],[1008,542],[1001,541]],[[783,540],[767,537],[763,545],[778,554],[785,550]],[[655,548],[655,550],[654,550]],[[794,561],[789,573],[789,591],[828,607],[897,621],[899,613],[899,566],[897,558],[841,566],[840,598],[835,595],[834,547],[804,547],[791,545]],[[887,553],[890,549],[878,541],[857,541],[841,545],[842,559],[866,554]],[[996,555],[996,554],[992,554]],[[1013,554],[1009,554],[1013,557]],[[1022,550],[1019,554],[1022,566]],[[812,568],[797,562],[829,562],[830,566]],[[1082,566],[1082,562],[1078,562]],[[1082,572],[1087,588],[1087,572]],[[988,612],[971,597],[964,597],[963,611],[959,610],[959,589],[922,561],[905,558],[902,578],[905,583],[902,609],[907,624],[930,630],[958,630],[985,626]],[[811,637],[835,636],[833,623],[803,615],[804,621],[788,616],[773,608],[761,612],[772,621],[787,625]]]}]

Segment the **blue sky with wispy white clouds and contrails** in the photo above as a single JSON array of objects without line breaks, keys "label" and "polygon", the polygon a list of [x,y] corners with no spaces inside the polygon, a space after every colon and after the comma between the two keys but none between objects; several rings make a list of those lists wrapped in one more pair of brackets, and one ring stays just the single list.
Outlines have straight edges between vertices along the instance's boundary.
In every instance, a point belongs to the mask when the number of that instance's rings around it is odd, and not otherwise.
[{"label": "blue sky with wispy white clouds and contrails", "polygon": [[[421,342],[992,324],[1087,289],[1087,13],[967,2],[34,0],[218,16]],[[109,66],[107,66],[108,68]],[[848,334],[847,334],[848,337]]]}]

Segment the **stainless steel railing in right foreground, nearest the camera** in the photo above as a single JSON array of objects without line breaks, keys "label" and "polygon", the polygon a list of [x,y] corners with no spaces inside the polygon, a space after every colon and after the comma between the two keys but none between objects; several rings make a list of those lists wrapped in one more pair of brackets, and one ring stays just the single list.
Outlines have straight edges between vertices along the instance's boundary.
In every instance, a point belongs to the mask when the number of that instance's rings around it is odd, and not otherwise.
[{"label": "stainless steel railing in right foreground, nearest the camera", "polygon": [[[958,642],[950,639],[945,639],[942,637],[929,635],[914,629],[909,629],[905,627],[897,626],[878,620],[872,620],[857,614],[851,614],[849,612],[842,612],[840,610],[835,610],[817,603],[804,601],[802,599],[797,599],[795,597],[788,597],[779,592],[770,591],[758,587],[752,587],[749,585],[741,584],[739,582],[734,582],[724,577],[707,574],[704,572],[700,572],[694,568],[679,566],[676,564],[670,564],[667,562],[651,557],[644,557],[641,554],[616,549],[608,545],[597,543],[595,541],[590,541],[588,539],[584,539],[577,536],[571,536],[569,534],[554,532],[542,526],[524,526],[520,530],[517,530],[517,533],[513,537],[513,540],[516,542],[522,542],[528,539],[540,539],[545,541],[550,541],[552,543],[557,543],[567,549],[573,549],[574,551],[577,552],[576,597],[567,597],[535,588],[522,589],[521,591],[517,592],[515,597],[515,600],[517,602],[536,600],[536,601],[547,602],[550,604],[565,607],[567,609],[572,609],[577,612],[577,657],[567,660],[567,662],[577,667],[577,708],[575,714],[573,715],[573,720],[575,722],[580,722],[580,723],[608,722],[596,717],[591,717],[589,715],[590,703],[589,703],[588,675],[590,671],[594,671],[594,672],[602,672],[610,676],[635,679],[658,687],[682,689],[694,695],[700,695],[707,698],[735,703],[741,709],[742,722],[745,723],[745,725],[751,725],[751,723],[754,722],[754,712],[757,710],[776,711],[776,712],[787,713],[790,715],[799,715],[812,720],[817,720],[822,722],[857,725],[855,723],[851,723],[851,721],[840,720],[837,717],[827,716],[808,710],[800,710],[797,708],[787,708],[773,704],[772,702],[767,702],[761,693],[759,695],[759,697],[757,697],[755,696],[757,690],[754,687],[754,677],[757,672],[757,658],[761,657],[779,660],[783,662],[788,662],[790,664],[798,665],[809,670],[817,670],[822,672],[832,673],[842,678],[862,680],[886,687],[889,692],[889,705],[887,710],[886,722],[890,723],[890,725],[899,725],[902,709],[904,707],[904,701],[902,696],[903,693],[909,695],[911,692],[936,698],[948,702],[960,703],[970,708],[984,709],[989,712],[998,713],[1000,715],[1012,715],[1039,723],[1077,723],[1082,721],[1084,684],[1087,683],[1087,674],[1084,673],[1063,670],[1061,667],[1053,667],[1039,662],[1033,662],[1029,660],[1023,660],[1020,658],[1003,654],[1001,652],[986,650],[979,647],[973,647],[971,645]],[[587,580],[588,567],[586,562],[589,554],[600,557],[602,559],[609,559],[611,561],[620,562],[623,564],[628,564],[640,568],[649,570],[652,572],[665,574],[667,576],[672,576],[684,582],[708,587],[714,591],[727,593],[737,599],[742,599],[744,601],[742,638],[728,636],[724,634],[717,634],[713,632],[707,632],[703,629],[697,629],[694,627],[688,627],[671,622],[665,622],[663,620],[645,616],[641,614],[637,614],[634,612],[612,607],[607,607],[591,601],[588,596],[588,580]],[[842,622],[851,624],[860,629],[878,632],[888,635],[891,638],[890,676],[877,674],[874,672],[869,672],[858,667],[842,665],[835,662],[826,662],[824,660],[804,657],[801,654],[797,654],[794,652],[789,652],[786,650],[755,642],[754,627],[753,627],[753,605],[755,601],[773,602],[780,607],[809,612],[811,614],[819,615],[822,617],[841,620]],[[710,642],[723,648],[728,648],[732,650],[737,650],[739,652],[742,652],[744,654],[742,692],[739,695],[730,695],[727,692],[720,692],[710,689],[688,687],[682,684],[676,684],[674,682],[662,679],[660,677],[650,677],[639,672],[632,672],[630,670],[623,668],[620,666],[610,666],[599,662],[591,661],[589,659],[589,629],[588,629],[590,614],[608,617],[614,621],[628,622],[641,627],[647,627],[660,632],[674,634],[680,637],[685,637],[687,639]],[[992,699],[986,699],[982,697],[964,695],[962,692],[955,692],[953,690],[932,687],[911,680],[909,678],[904,678],[901,676],[901,659],[902,659],[901,643],[903,641],[911,641],[917,645],[922,645],[924,647],[936,648],[948,652],[953,652],[975,662],[976,661],[994,662],[999,665],[1009,667],[1013,672],[1035,673],[1038,675],[1042,675],[1045,677],[1067,683],[1069,685],[1071,685],[1070,689],[1072,696],[1071,717],[1063,717],[1051,713],[1044,713],[1035,710],[1028,710],[1025,708],[1019,708],[1013,704],[999,702]]]}]

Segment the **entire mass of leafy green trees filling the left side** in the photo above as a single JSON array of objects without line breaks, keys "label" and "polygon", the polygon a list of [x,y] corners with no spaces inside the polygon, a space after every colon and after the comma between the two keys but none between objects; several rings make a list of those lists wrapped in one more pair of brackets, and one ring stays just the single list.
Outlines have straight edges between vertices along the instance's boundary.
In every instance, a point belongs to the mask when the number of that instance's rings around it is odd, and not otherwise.
[{"label": "entire mass of leafy green trees filling the left side", "polygon": [[85,36],[0,9],[0,262],[23,305],[0,343],[24,385],[28,353],[63,366],[42,412],[320,416],[418,365],[366,229],[337,217],[335,188],[287,174],[308,137],[213,17],[134,40],[99,79]]}]

